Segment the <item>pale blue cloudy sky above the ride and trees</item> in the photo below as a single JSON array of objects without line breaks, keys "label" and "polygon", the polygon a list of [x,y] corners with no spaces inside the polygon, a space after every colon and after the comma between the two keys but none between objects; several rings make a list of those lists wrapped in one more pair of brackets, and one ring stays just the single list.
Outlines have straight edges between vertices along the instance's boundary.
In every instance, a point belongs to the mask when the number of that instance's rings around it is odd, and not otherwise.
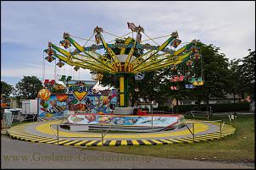
[{"label": "pale blue cloudy sky above the ride and trees", "polygon": [[[122,36],[127,22],[142,25],[151,37],[174,30],[182,42],[198,39],[220,47],[226,58],[243,58],[255,50],[255,2],[4,2],[1,1],[1,80],[15,85],[23,75],[42,80],[43,50],[47,42],[58,43],[64,31],[89,38],[98,25]],[[111,41],[114,36],[106,36]],[[147,37],[142,36],[142,40]],[[83,45],[86,41],[75,39]],[[158,43],[164,39],[156,40]],[[46,55],[44,56],[46,57]],[[54,79],[54,64],[45,62],[45,79]],[[91,80],[89,70],[58,74]]]}]

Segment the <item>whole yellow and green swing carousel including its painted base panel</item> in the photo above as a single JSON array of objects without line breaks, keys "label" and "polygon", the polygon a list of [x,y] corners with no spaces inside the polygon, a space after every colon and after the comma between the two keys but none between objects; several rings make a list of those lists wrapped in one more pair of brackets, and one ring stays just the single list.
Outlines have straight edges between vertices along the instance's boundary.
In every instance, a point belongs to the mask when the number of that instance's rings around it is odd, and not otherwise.
[{"label": "whole yellow and green swing carousel including its painted base panel", "polygon": [[[58,58],[56,64],[58,67],[62,67],[66,63],[74,67],[75,71],[90,69],[94,73],[95,80],[101,80],[103,74],[112,74],[118,80],[119,106],[115,107],[114,114],[77,113],[67,118],[68,123],[72,125],[76,123],[109,123],[119,125],[119,128],[115,129],[143,132],[175,129],[183,126],[185,119],[182,115],[142,115],[140,112],[138,115],[132,115],[134,108],[129,106],[129,80],[131,78],[142,80],[147,72],[170,67],[173,70],[170,76],[172,83],[186,81],[186,88],[189,89],[203,85],[203,71],[201,70],[201,74],[198,75],[196,74],[198,72],[195,71],[195,69],[203,69],[203,57],[199,54],[199,47],[196,47],[197,41],[193,40],[177,49],[182,43],[178,39],[178,32],[174,31],[163,44],[158,45],[154,40],[167,36],[151,38],[147,36],[141,25],[127,24],[131,32],[125,36],[132,34],[132,37],[117,36],[119,41],[115,43],[106,42],[103,34],[114,35],[98,26],[93,30],[89,39],[82,39],[87,43],[92,41],[94,36],[95,41],[93,42],[95,43],[92,46],[86,47],[86,43],[83,46],[80,45],[74,40],[78,37],[71,36],[67,32],[64,32],[64,40],[59,42],[60,45],[48,42],[48,48],[44,52],[47,53],[45,59],[49,63]],[[135,38],[133,38],[134,33],[136,34]],[[147,36],[148,39],[142,40],[142,35]],[[142,43],[145,41],[153,41],[157,45]],[[106,52],[105,55],[102,54],[103,50]],[[135,57],[136,50],[141,50],[142,54]],[[170,90],[179,90],[179,87],[172,85]],[[95,125],[89,126],[89,129],[90,127],[91,129],[98,128]]]}]

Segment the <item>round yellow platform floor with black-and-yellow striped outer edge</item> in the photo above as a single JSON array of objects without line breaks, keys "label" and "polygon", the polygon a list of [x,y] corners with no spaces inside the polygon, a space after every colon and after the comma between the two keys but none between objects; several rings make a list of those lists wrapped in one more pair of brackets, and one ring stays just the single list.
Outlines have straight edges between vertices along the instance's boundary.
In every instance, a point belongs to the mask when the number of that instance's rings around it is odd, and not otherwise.
[{"label": "round yellow platform floor with black-and-yellow striped outer edge", "polygon": [[[66,129],[54,128],[54,124],[61,123],[60,120],[45,121],[36,123],[25,123],[8,129],[8,134],[18,140],[31,142],[40,142],[56,145],[78,145],[78,146],[96,146],[96,145],[168,145],[176,143],[192,143],[205,140],[220,139],[220,123],[203,122],[195,120],[186,120],[195,122],[194,137],[186,127],[170,131],[154,133],[118,133],[106,134],[102,140],[101,133],[92,132],[71,132]],[[189,123],[187,123],[189,124]],[[51,129],[51,126],[52,128]],[[192,126],[190,127],[192,130]],[[233,134],[235,128],[225,124],[221,130],[221,138]],[[58,134],[58,137],[56,135]]]}]

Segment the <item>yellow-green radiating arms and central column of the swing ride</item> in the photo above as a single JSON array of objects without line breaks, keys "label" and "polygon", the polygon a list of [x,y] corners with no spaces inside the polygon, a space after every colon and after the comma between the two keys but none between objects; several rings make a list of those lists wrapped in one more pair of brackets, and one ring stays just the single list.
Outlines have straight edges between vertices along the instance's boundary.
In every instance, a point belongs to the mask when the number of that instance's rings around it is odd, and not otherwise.
[{"label": "yellow-green radiating arms and central column of the swing ride", "polygon": [[[186,43],[185,46],[180,47],[181,40],[179,40],[178,32],[174,31],[168,36],[160,36],[151,38],[147,36],[145,30],[141,25],[136,26],[133,23],[127,23],[128,29],[131,29],[132,37],[117,36],[119,40],[115,43],[106,42],[103,34],[110,34],[101,27],[96,27],[93,34],[89,39],[82,39],[92,41],[95,37],[95,44],[86,47],[81,46],[69,33],[64,32],[64,40],[58,44],[48,42],[48,48],[44,50],[47,53],[48,62],[52,62],[58,58],[58,67],[62,67],[64,63],[74,66],[75,70],[90,69],[97,75],[104,73],[113,74],[119,80],[119,107],[129,107],[129,79],[132,76],[143,77],[145,72],[150,72],[158,69],[163,69],[169,66],[175,67],[180,63],[192,63],[192,59],[201,59],[202,56],[198,53],[199,48],[196,47],[197,41],[193,40]],[[136,38],[133,38],[133,33]],[[147,40],[142,41],[142,34],[147,36]],[[114,36],[114,35],[113,35]],[[155,39],[168,37],[163,44],[158,45]],[[145,41],[153,41],[157,46],[150,45],[149,43],[143,44]],[[110,41],[111,42],[111,41]],[[64,48],[62,48],[62,47]],[[170,46],[170,48],[168,47]],[[73,49],[72,49],[73,47]],[[75,47],[75,48],[74,48]],[[119,48],[118,52],[114,52],[114,48]],[[107,55],[102,54],[104,50]],[[142,50],[142,55],[135,57],[134,52]],[[115,50],[116,51],[116,50]],[[99,76],[102,77],[102,76]],[[183,80],[183,79],[182,79]],[[203,80],[193,79],[193,85],[203,85]]]}]

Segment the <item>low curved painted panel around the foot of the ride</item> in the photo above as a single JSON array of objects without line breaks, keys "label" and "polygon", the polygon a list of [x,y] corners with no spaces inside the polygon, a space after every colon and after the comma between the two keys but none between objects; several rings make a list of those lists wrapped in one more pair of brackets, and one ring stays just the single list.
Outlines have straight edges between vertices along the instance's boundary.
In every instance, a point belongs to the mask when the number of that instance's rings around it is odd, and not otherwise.
[{"label": "low curved painted panel around the foot of the ride", "polygon": [[[133,132],[153,132],[181,128],[185,125],[183,115],[114,115],[114,114],[92,114],[92,113],[77,113],[70,115],[67,122],[75,129],[84,124],[88,125],[89,130],[103,129],[133,131]],[[78,130],[83,131],[83,129]]]}]

